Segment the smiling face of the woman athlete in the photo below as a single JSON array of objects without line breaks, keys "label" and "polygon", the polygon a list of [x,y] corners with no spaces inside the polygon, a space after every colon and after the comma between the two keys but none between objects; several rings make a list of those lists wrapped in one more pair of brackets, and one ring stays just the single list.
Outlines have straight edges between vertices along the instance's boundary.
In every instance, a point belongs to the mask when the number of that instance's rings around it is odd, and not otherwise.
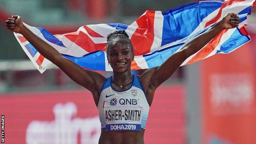
[{"label": "smiling face of the woman athlete", "polygon": [[108,60],[113,71],[124,73],[130,71],[134,53],[127,43],[117,41],[108,50]]}]

